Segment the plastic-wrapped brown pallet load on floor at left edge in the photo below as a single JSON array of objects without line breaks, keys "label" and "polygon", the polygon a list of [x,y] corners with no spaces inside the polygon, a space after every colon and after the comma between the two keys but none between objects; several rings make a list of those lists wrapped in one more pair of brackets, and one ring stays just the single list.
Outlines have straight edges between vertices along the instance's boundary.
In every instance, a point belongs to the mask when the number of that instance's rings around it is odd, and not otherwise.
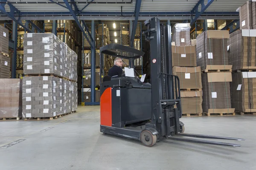
[{"label": "plastic-wrapped brown pallet load on floor at left edge", "polygon": [[21,117],[21,79],[0,79],[0,118]]}]

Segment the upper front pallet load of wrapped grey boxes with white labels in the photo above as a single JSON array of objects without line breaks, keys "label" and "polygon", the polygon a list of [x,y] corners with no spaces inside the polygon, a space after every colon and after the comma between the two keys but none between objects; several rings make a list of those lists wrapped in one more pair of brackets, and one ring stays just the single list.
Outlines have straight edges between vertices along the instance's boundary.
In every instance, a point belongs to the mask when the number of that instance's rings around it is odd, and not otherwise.
[{"label": "upper front pallet load of wrapped grey boxes with white labels", "polygon": [[24,74],[63,76],[63,44],[54,34],[24,34]]}]

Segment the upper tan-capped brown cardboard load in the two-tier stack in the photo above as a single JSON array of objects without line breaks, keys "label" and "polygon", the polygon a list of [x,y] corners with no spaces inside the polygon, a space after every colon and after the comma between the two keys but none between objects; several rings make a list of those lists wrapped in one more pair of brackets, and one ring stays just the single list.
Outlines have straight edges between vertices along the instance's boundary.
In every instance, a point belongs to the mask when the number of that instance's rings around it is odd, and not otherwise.
[{"label": "upper tan-capped brown cardboard load in the two-tier stack", "polygon": [[197,65],[206,69],[207,65],[228,65],[227,40],[229,31],[204,31],[197,37]]}]

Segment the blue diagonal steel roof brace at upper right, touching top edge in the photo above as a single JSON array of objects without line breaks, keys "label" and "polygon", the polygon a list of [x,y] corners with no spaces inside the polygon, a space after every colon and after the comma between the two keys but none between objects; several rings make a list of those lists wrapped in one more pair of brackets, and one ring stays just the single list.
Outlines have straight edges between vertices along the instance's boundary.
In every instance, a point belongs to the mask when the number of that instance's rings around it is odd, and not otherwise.
[{"label": "blue diagonal steel roof brace at upper right, touching top edge", "polygon": [[[214,0],[206,0],[207,4],[204,4],[205,0],[199,0],[198,3],[195,5],[195,7],[191,11],[191,21],[190,26],[195,23],[195,21],[201,16],[201,14],[204,13],[204,11],[213,3]],[[198,11],[198,7],[201,5],[201,11]],[[193,14],[195,14],[195,17],[193,18]]]}]

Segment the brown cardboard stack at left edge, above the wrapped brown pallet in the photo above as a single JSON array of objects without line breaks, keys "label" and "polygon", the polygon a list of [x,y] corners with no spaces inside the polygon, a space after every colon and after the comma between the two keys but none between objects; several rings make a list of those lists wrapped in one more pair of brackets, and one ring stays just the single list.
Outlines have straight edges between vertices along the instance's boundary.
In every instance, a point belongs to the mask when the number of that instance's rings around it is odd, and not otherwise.
[{"label": "brown cardboard stack at left edge, above the wrapped brown pallet", "polygon": [[0,26],[0,78],[10,78],[9,30]]}]

